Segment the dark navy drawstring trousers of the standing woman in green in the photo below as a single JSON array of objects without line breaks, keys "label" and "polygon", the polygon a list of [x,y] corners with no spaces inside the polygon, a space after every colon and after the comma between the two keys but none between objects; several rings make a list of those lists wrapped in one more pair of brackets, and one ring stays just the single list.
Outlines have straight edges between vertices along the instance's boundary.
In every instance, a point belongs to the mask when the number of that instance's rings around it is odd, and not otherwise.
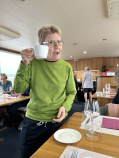
[{"label": "dark navy drawstring trousers of the standing woman in green", "polygon": [[39,123],[26,117],[20,139],[21,158],[29,158],[67,119],[68,116],[60,123]]}]

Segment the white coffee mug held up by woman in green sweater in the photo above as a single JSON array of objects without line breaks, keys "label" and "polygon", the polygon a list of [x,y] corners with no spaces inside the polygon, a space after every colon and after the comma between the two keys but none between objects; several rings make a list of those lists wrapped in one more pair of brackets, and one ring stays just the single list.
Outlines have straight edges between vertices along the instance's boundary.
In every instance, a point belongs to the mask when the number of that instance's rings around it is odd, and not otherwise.
[{"label": "white coffee mug held up by woman in green sweater", "polygon": [[33,48],[33,54],[36,59],[46,59],[48,56],[49,47],[45,45],[35,45]]}]

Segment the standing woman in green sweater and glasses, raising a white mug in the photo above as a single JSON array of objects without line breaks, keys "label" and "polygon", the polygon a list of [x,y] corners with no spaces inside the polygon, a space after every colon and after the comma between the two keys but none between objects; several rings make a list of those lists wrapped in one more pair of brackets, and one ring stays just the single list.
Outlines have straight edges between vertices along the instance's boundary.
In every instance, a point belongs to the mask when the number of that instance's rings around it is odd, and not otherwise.
[{"label": "standing woman in green sweater and glasses, raising a white mug", "polygon": [[57,26],[43,26],[40,45],[49,47],[46,59],[35,59],[32,48],[22,50],[14,90],[30,87],[30,101],[21,131],[21,157],[29,158],[66,120],[75,94],[73,70],[60,59],[63,41]]}]

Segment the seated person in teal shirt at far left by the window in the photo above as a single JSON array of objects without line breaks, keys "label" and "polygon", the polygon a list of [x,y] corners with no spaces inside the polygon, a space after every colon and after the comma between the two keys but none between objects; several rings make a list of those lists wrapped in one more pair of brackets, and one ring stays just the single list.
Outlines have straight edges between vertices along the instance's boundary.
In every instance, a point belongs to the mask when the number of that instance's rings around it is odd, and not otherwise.
[{"label": "seated person in teal shirt at far left by the window", "polygon": [[12,82],[7,80],[5,73],[0,74],[0,86],[3,87],[3,94],[11,94],[13,92]]}]

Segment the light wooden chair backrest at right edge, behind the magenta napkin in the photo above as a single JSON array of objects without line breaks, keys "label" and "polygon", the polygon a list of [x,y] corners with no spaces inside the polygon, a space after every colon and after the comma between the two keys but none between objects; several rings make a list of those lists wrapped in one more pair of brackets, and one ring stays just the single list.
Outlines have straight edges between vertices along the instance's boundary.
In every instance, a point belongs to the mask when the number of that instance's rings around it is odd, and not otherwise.
[{"label": "light wooden chair backrest at right edge, behind the magenta napkin", "polygon": [[107,106],[108,116],[119,117],[119,104],[109,103]]}]

